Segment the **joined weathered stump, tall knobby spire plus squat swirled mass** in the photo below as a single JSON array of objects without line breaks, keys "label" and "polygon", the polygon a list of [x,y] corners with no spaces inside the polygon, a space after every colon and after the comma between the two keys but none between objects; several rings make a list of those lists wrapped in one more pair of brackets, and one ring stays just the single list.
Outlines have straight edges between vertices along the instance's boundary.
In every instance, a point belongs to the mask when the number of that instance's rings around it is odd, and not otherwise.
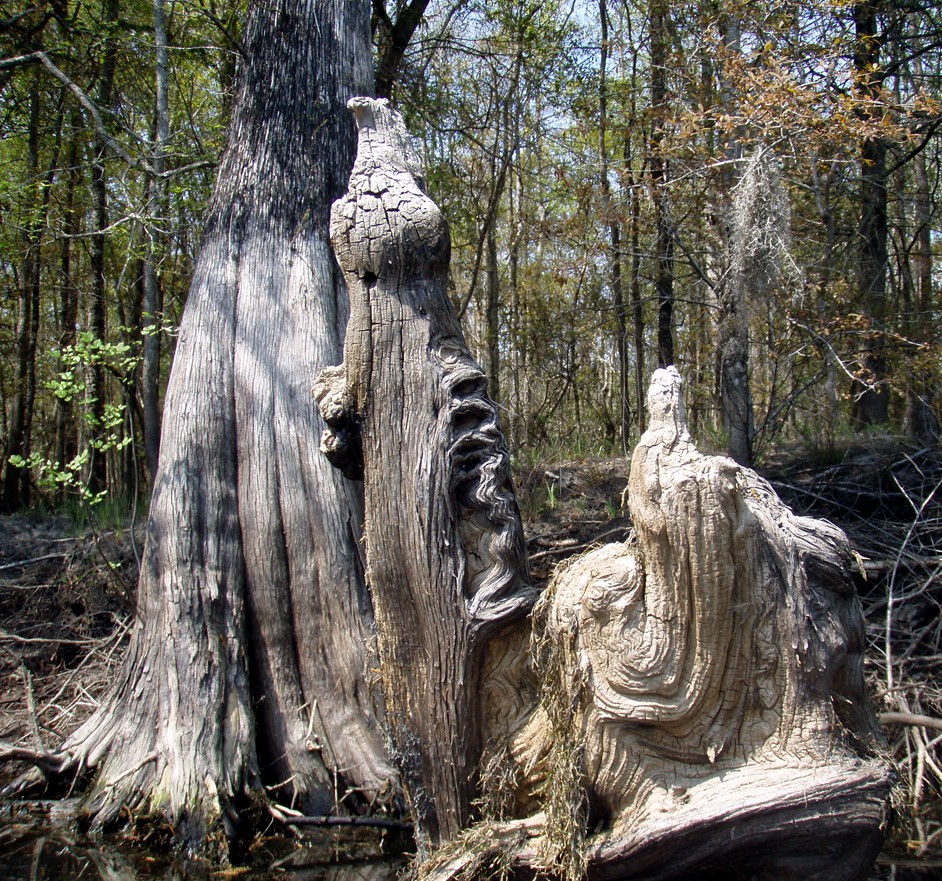
[{"label": "joined weathered stump, tall knobby spire plus squat swirled mass", "polygon": [[[844,534],[698,452],[680,376],[659,370],[635,537],[563,568],[519,651],[534,598],[496,409],[445,292],[447,227],[398,116],[351,106],[359,153],[331,233],[352,317],[315,394],[322,448],[364,480],[389,739],[420,846],[455,842],[426,870],[862,881],[891,774]],[[500,808],[455,841],[477,795]]]}]

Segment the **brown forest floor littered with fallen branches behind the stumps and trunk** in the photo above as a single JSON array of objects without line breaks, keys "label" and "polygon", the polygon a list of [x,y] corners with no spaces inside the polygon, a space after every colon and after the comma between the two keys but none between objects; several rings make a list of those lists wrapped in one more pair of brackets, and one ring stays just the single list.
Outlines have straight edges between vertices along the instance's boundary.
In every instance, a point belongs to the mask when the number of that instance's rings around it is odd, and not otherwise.
[{"label": "brown forest floor littered with fallen branches behind the stumps and trunk", "polygon": [[[840,525],[860,555],[868,680],[901,780],[885,859],[939,872],[942,451],[886,439],[830,456],[780,453],[760,473],[797,513]],[[628,537],[627,476],[623,458],[554,459],[517,475],[536,583]],[[97,706],[133,621],[140,527],[132,541],[128,528],[0,518],[0,742],[54,748]],[[0,765],[0,785],[12,770]]]}]

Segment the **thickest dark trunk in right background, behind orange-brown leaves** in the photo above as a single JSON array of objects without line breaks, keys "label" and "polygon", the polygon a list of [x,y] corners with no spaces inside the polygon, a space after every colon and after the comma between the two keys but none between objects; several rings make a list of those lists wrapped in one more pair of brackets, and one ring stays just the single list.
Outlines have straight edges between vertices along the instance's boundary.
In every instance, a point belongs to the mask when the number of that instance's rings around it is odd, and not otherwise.
[{"label": "thickest dark trunk in right background, behind orange-brown leaves", "polygon": [[[869,104],[880,100],[882,37],[877,24],[877,4],[854,6],[854,71],[861,99]],[[870,116],[871,110],[863,111]],[[886,141],[879,136],[864,139],[860,150],[860,223],[858,238],[858,292],[861,308],[870,320],[862,366],[867,377],[856,390],[854,418],[858,428],[885,423],[889,419],[889,388],[886,385],[886,273],[887,194]]]}]

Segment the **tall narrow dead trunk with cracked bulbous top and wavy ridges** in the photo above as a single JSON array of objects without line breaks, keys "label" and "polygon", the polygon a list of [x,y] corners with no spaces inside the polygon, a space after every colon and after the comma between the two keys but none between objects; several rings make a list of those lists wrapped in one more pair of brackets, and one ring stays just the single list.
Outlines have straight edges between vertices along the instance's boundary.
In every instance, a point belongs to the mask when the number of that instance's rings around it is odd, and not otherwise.
[{"label": "tall narrow dead trunk with cracked bulbous top and wavy ridges", "polygon": [[424,852],[471,819],[485,648],[534,595],[497,408],[446,291],[447,224],[398,114],[350,106],[359,151],[331,239],[351,318],[315,393],[328,457],[362,465],[387,726]]}]

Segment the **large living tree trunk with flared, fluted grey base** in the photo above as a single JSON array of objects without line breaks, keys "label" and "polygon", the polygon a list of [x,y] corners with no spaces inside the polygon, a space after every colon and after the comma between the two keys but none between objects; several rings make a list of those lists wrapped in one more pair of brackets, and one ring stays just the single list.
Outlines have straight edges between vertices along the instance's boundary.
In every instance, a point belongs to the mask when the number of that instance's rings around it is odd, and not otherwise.
[{"label": "large living tree trunk with flared, fluted grey base", "polygon": [[353,158],[344,105],[371,83],[368,15],[362,0],[250,8],[166,394],[139,623],[115,692],[64,748],[99,767],[97,825],[149,809],[200,841],[263,783],[314,813],[348,790],[395,793],[365,679],[361,507],[318,453],[310,398],[347,317],[327,218]]}]

